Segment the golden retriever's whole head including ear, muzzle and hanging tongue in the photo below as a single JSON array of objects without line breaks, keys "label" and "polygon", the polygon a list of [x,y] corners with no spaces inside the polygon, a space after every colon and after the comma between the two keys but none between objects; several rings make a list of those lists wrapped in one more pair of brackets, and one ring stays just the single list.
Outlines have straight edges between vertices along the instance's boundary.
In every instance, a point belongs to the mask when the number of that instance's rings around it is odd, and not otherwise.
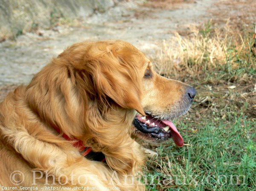
[{"label": "golden retriever's whole head including ear, muzzle and hanging tongue", "polygon": [[194,88],[160,76],[144,54],[122,41],[93,44],[85,60],[100,96],[138,112],[133,121],[137,137],[153,142],[172,137],[176,145],[183,145],[171,120],[189,110]]}]

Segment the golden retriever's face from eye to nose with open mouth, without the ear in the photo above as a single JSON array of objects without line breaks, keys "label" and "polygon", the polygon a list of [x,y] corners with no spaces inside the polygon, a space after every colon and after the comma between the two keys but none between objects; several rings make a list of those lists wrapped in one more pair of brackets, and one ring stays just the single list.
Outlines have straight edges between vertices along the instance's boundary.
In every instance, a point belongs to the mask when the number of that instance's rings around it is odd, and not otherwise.
[{"label": "golden retriever's face from eye to nose with open mouth, without the ear", "polygon": [[157,143],[172,137],[176,145],[182,146],[183,138],[171,120],[186,114],[195,97],[195,88],[160,76],[147,59],[143,72],[141,103],[146,115],[136,115],[136,135]]}]

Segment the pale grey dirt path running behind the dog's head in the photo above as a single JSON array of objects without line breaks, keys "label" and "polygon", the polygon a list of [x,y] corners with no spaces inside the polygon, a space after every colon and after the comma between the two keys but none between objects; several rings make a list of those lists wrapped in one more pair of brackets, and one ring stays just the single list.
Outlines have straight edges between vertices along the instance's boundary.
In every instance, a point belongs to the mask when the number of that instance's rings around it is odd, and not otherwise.
[{"label": "pale grey dirt path running behind the dog's head", "polygon": [[177,29],[209,20],[206,10],[214,0],[169,5],[168,9],[124,1],[104,14],[96,14],[76,26],[58,26],[28,33],[15,42],[0,43],[0,87],[28,83],[49,60],[73,43],[84,40],[122,39],[151,54],[160,40]]}]

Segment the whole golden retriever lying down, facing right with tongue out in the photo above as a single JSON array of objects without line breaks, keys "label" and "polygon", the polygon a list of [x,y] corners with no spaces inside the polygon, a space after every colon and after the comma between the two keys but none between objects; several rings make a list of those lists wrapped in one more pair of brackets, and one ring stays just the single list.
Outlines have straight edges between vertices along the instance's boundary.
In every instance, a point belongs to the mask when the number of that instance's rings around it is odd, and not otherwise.
[{"label": "whole golden retriever lying down, facing right with tongue out", "polygon": [[194,97],[129,43],[74,44],[0,103],[1,189],[143,191],[145,156],[135,139],[182,146],[171,120]]}]

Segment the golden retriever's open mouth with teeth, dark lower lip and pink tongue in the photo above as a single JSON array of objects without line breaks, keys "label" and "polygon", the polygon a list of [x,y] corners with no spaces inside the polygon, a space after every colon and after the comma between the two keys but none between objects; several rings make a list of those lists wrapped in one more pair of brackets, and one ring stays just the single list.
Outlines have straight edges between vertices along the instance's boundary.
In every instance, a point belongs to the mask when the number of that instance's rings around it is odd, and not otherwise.
[{"label": "golden retriever's open mouth with teeth, dark lower lip and pink tongue", "polygon": [[183,146],[183,138],[170,120],[160,120],[149,114],[147,116],[137,114],[134,118],[134,126],[140,133],[146,134],[149,137],[159,141],[172,138],[177,146]]}]

